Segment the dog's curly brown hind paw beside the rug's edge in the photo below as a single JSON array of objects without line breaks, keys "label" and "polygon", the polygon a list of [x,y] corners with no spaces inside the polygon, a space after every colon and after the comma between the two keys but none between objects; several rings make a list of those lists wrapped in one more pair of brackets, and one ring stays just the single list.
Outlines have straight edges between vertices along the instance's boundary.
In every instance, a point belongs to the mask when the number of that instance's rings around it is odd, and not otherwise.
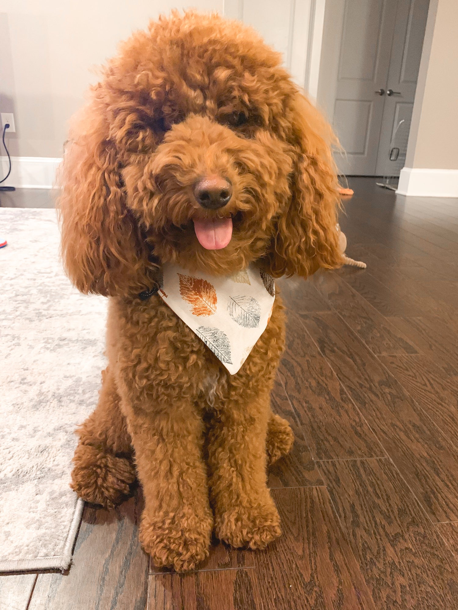
[{"label": "dog's curly brown hind paw beside the rug's edge", "polygon": [[136,479],[131,461],[104,453],[91,445],[78,445],[73,458],[71,489],[80,498],[104,508],[113,508],[131,495]]}]

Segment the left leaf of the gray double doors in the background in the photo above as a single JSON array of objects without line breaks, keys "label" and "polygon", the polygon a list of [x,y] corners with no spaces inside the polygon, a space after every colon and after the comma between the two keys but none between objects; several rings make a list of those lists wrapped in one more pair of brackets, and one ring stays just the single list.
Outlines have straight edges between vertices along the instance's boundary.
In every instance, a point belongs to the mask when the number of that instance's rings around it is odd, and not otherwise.
[{"label": "left leaf of the gray double doors in the background", "polygon": [[344,0],[333,127],[346,149],[336,157],[346,174],[373,175],[398,0]]}]

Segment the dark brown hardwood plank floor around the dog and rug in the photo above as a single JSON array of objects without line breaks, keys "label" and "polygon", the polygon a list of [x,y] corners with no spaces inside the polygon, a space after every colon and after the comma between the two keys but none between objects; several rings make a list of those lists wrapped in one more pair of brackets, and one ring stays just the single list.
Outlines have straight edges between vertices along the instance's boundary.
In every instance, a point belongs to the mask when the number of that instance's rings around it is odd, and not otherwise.
[{"label": "dark brown hardwood plank floor around the dog and rug", "polygon": [[[67,574],[0,576],[1,610],[458,610],[458,200],[349,183],[340,224],[367,269],[277,282],[272,409],[296,434],[269,472],[283,536],[156,570],[138,492],[86,506]],[[0,204],[31,197],[46,207]]]}]

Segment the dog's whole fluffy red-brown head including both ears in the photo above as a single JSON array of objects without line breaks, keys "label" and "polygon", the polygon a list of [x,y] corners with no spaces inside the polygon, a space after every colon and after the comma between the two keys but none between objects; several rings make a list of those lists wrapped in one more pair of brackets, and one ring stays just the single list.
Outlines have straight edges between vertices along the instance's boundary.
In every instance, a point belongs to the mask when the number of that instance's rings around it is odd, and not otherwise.
[{"label": "dog's whole fluffy red-brown head including both ears", "polygon": [[332,132],[249,28],[172,14],[137,32],[73,121],[62,251],[82,292],[151,287],[163,262],[274,276],[340,264]]}]

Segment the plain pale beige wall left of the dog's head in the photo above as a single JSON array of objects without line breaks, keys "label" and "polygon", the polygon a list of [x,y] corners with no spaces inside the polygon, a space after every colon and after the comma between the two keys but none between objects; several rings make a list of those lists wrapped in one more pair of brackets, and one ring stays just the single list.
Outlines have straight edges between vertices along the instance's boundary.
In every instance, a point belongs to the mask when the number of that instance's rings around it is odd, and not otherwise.
[{"label": "plain pale beige wall left of the dog's head", "polygon": [[223,1],[0,0],[0,110],[16,124],[10,154],[61,157],[68,119],[120,40],[172,8],[222,12]]}]

